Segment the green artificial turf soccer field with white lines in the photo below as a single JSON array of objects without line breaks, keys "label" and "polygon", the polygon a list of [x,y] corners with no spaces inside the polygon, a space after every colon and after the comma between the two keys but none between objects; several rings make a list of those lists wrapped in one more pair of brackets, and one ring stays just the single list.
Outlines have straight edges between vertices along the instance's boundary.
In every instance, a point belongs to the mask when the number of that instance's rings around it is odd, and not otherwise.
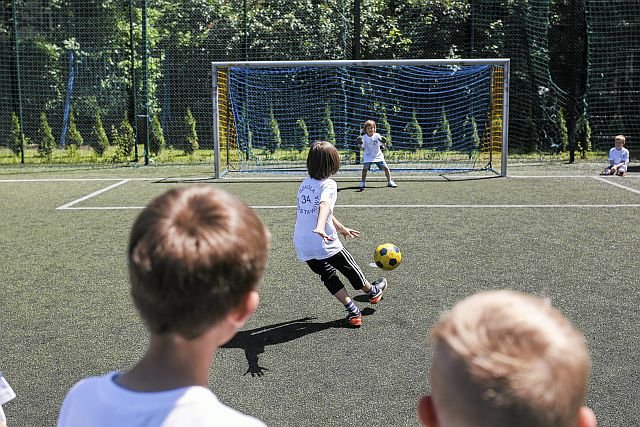
[{"label": "green artificial turf soccer field with white lines", "polygon": [[345,246],[367,276],[382,273],[369,265],[378,244],[403,255],[380,304],[356,297],[361,329],[343,327],[343,308],[295,259],[300,175],[0,169],[0,369],[17,393],[8,425],[54,425],[77,380],[140,357],[147,340],[128,293],[128,232],[155,196],[193,184],[239,196],[273,238],[258,311],[211,370],[210,387],[229,406],[270,426],[417,426],[430,327],[471,293],[509,288],[550,298],[585,334],[587,405],[599,426],[640,425],[640,175],[602,177],[601,166],[396,175],[396,189],[372,172],[365,191],[339,174],[335,214],[361,231]]}]

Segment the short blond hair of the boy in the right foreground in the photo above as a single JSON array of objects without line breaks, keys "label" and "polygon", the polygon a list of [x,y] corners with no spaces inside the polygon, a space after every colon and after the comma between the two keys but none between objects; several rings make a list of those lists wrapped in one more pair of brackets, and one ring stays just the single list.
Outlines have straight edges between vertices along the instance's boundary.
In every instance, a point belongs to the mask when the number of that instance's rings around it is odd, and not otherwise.
[{"label": "short blond hair of the boy in the right foreground", "polygon": [[492,427],[576,425],[589,355],[582,334],[547,301],[480,292],[446,313],[432,339],[439,418]]}]

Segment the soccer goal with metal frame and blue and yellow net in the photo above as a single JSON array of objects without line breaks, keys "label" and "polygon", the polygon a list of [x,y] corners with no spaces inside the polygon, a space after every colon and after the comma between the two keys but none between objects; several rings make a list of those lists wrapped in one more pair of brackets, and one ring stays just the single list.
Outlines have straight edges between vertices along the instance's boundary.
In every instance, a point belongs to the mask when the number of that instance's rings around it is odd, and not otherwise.
[{"label": "soccer goal with metal frame and blue and yellow net", "polygon": [[507,173],[508,59],[213,62],[212,80],[216,177],[304,171],[316,140],[360,171],[369,119],[394,172]]}]

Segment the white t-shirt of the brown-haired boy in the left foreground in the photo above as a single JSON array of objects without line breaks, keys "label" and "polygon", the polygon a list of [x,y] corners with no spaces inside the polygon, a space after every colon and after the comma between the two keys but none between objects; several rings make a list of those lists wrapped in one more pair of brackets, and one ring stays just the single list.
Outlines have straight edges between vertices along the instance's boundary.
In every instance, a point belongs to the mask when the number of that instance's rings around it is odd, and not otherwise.
[{"label": "white t-shirt of the brown-haired boy in the left foreground", "polygon": [[143,393],[118,385],[118,372],[74,385],[62,402],[58,427],[264,427],[222,404],[205,387]]}]

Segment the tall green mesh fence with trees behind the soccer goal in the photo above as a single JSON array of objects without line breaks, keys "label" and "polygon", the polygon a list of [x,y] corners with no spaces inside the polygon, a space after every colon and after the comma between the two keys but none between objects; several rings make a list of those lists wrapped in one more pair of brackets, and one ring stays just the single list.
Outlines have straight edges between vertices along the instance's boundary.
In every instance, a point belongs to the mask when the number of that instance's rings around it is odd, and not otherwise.
[{"label": "tall green mesh fence with trees behind the soccer goal", "polygon": [[210,161],[210,63],[243,60],[511,58],[512,152],[640,148],[626,0],[0,4],[3,163]]}]

